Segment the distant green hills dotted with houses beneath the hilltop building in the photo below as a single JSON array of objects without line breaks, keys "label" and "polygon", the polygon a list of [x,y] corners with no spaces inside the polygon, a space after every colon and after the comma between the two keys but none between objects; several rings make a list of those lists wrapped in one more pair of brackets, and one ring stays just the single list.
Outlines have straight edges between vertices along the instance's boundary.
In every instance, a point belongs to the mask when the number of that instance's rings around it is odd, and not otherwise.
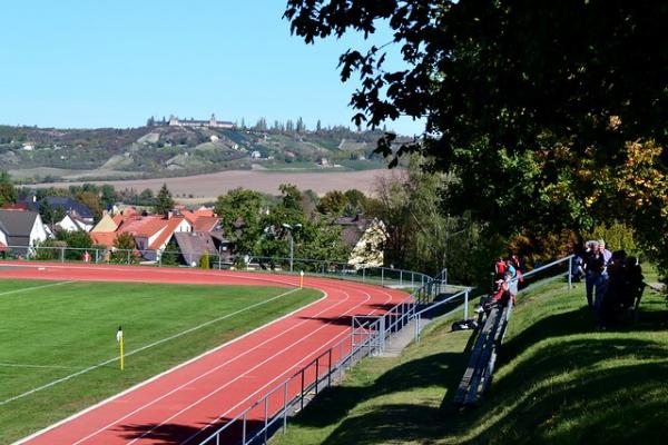
[{"label": "distant green hills dotted with houses beneath the hilltop building", "polygon": [[[0,126],[0,169],[52,182],[188,176],[220,170],[364,170],[382,131],[318,131],[153,125],[129,129]],[[401,144],[402,140],[399,140]]]}]

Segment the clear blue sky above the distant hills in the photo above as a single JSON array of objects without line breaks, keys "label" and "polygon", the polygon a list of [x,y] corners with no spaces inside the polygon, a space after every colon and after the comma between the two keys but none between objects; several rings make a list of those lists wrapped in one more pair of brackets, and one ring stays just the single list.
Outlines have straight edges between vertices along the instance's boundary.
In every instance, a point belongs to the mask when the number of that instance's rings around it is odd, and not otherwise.
[{"label": "clear blue sky above the distant hills", "polygon": [[[355,83],[338,55],[357,36],[307,46],[283,0],[21,0],[2,4],[0,123],[138,127],[155,115],[264,116],[351,125]],[[379,36],[377,43],[389,40]],[[389,122],[420,134],[410,119]]]}]

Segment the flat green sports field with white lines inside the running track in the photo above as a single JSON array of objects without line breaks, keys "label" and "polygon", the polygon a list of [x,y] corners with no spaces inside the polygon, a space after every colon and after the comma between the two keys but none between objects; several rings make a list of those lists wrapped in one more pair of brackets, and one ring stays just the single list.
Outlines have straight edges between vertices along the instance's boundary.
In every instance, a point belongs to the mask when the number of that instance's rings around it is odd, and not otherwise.
[{"label": "flat green sports field with white lines inside the running track", "polygon": [[[314,289],[283,287],[2,279],[0,443],[48,426],[321,296]],[[129,354],[203,324],[131,354],[125,372],[112,360],[118,357],[119,325]]]}]

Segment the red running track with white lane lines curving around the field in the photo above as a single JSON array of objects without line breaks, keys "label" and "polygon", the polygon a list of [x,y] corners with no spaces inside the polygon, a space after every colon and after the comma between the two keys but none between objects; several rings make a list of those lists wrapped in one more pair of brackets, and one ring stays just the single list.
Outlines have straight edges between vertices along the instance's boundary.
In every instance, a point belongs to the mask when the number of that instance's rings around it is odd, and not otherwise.
[{"label": "red running track with white lane lines curving around the field", "polygon": [[[26,265],[26,263],[22,263]],[[48,264],[0,269],[0,277],[294,287],[297,278],[233,271]],[[43,269],[41,269],[43,268]],[[41,270],[40,270],[41,269]],[[215,427],[350,334],[350,317],[377,315],[405,294],[357,283],[306,277],[325,297],[28,438],[28,444],[197,444]],[[347,345],[347,342],[346,342]],[[350,350],[334,352],[338,355]],[[326,364],[326,362],[324,362]],[[321,368],[321,374],[323,366]],[[315,369],[306,374],[313,382]],[[296,383],[296,382],[295,382]],[[298,383],[288,387],[291,395]],[[283,392],[269,399],[269,414]],[[262,408],[262,409],[261,409]],[[249,421],[264,418],[264,405]],[[253,424],[250,424],[252,426]],[[257,424],[255,424],[257,425]],[[226,441],[225,441],[226,442]],[[225,443],[222,442],[222,443]]]}]

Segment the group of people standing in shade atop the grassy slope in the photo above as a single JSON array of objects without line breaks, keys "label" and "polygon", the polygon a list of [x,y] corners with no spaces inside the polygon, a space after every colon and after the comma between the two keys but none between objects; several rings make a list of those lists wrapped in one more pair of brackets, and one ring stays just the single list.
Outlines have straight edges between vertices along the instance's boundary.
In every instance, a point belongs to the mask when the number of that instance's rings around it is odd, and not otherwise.
[{"label": "group of people standing in shade atop the grassy slope", "polygon": [[618,322],[645,288],[638,258],[627,257],[623,250],[611,253],[602,239],[584,243],[571,274],[576,280],[584,277],[587,306],[597,313],[601,328]]}]

